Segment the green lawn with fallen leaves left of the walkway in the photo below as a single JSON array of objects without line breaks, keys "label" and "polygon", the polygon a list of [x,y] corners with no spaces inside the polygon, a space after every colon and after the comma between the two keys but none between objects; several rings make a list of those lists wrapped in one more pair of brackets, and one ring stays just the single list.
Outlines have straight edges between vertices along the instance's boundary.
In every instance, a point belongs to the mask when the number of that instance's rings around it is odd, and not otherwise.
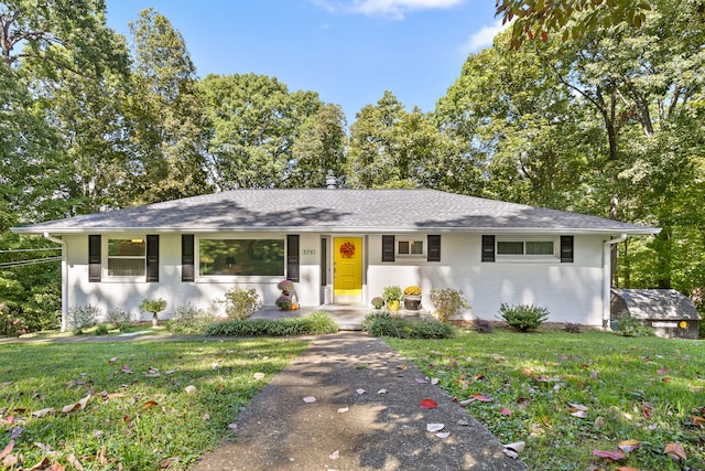
[{"label": "green lawn with fallen leaves left of the walkway", "polygon": [[[22,456],[24,469],[47,447],[57,452],[50,461],[63,465],[73,454],[85,469],[186,469],[223,441],[241,408],[305,345],[295,339],[2,344],[0,450],[21,427],[10,454]],[[85,409],[62,413],[89,394]],[[32,414],[50,407],[57,411]]]}]

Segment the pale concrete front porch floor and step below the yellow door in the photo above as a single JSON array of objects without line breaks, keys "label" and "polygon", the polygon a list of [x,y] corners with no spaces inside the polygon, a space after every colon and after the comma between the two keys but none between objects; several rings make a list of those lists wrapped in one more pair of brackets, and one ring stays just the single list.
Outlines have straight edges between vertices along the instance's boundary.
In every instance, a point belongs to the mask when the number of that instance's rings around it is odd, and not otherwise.
[{"label": "pale concrete front porch floor and step below the yellow door", "polygon": [[[345,331],[360,331],[362,330],[362,321],[365,317],[373,309],[366,306],[344,306],[344,304],[322,304],[315,308],[303,307],[295,311],[282,311],[275,306],[263,306],[259,311],[252,315],[252,319],[282,319],[282,318],[300,318],[306,315],[313,311],[327,311],[333,315],[338,323],[338,329]],[[408,319],[432,319],[431,313],[425,310],[420,311],[406,311],[400,309],[398,315],[402,315]]]}]

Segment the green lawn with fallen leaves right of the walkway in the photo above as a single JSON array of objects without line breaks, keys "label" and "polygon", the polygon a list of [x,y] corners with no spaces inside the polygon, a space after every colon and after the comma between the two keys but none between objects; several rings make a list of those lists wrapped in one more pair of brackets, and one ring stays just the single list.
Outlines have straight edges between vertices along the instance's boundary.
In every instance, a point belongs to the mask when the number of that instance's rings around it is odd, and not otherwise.
[{"label": "green lawn with fallen leaves right of the walkway", "polygon": [[[501,442],[525,441],[521,459],[530,469],[705,467],[705,425],[693,419],[705,417],[705,341],[506,330],[386,340],[459,402],[489,396],[468,413]],[[571,404],[587,407],[586,417],[573,416]],[[625,459],[593,454],[630,439],[640,445]],[[687,460],[664,454],[668,443],[679,443]]]}]

